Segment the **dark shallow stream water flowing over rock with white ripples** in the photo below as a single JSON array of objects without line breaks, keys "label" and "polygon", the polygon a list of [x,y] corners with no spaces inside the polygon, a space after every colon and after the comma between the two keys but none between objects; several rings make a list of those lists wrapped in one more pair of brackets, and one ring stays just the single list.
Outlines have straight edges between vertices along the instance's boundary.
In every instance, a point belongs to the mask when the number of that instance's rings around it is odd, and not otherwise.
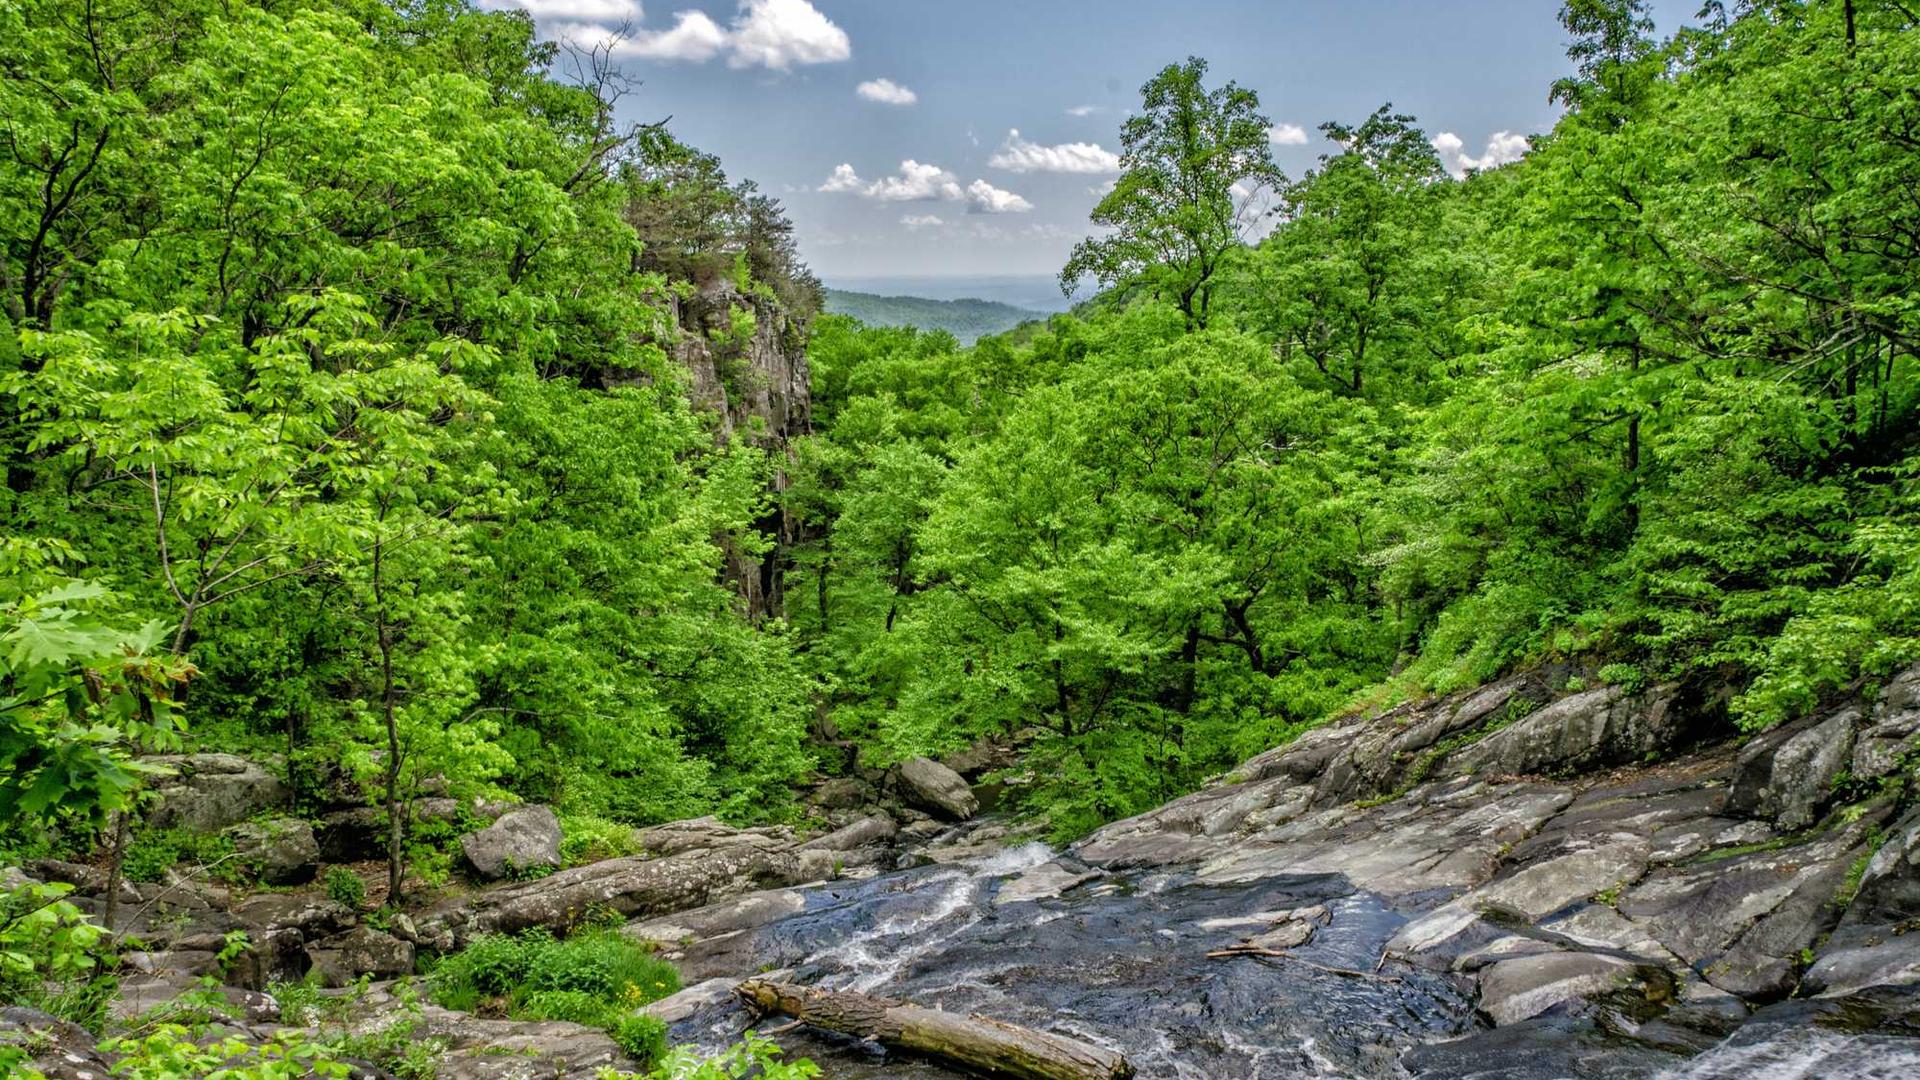
[{"label": "dark shallow stream water flowing over rock with white ripples", "polygon": [[[1920,1040],[1847,1034],[1816,1011],[1761,1013],[1697,1057],[1578,1019],[1488,1030],[1459,980],[1404,965],[1375,970],[1394,930],[1428,905],[1394,907],[1338,876],[1210,886],[1148,872],[996,903],[1010,880],[1052,857],[1027,844],[816,886],[803,911],[749,930],[732,953],[791,982],[1077,1034],[1125,1051],[1142,1078],[1920,1078]],[[1206,955],[1265,928],[1261,913],[1315,903],[1332,919],[1294,959]],[[674,1036],[716,1047],[747,1022],[720,1003]],[[829,1078],[952,1076],[810,1028],[780,1042]]]}]

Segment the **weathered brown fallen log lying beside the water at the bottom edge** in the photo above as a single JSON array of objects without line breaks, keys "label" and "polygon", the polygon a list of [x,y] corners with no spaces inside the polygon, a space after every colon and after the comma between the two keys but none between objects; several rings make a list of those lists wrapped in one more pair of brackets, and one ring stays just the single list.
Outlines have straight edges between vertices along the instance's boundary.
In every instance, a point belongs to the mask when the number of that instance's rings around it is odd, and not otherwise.
[{"label": "weathered brown fallen log lying beside the water at the bottom edge", "polygon": [[758,1013],[874,1040],[987,1076],[1018,1080],[1129,1080],[1133,1065],[1112,1049],[987,1017],[962,1017],[906,1001],[749,978],[735,990]]}]

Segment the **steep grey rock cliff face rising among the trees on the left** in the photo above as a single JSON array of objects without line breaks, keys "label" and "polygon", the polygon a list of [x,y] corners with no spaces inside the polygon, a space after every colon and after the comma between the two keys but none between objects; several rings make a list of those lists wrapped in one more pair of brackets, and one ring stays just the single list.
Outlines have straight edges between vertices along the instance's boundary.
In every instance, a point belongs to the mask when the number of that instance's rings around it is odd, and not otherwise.
[{"label": "steep grey rock cliff face rising among the trees on the left", "polygon": [[[718,417],[720,440],[741,438],[780,461],[793,438],[812,430],[806,323],[768,296],[741,294],[728,279],[699,284],[672,306],[680,325],[674,356],[691,375],[695,407]],[[785,473],[776,471],[774,490],[785,486]],[[780,615],[795,521],[774,509],[756,528],[774,548],[753,557],[726,544],[728,580],[751,617]]]}]

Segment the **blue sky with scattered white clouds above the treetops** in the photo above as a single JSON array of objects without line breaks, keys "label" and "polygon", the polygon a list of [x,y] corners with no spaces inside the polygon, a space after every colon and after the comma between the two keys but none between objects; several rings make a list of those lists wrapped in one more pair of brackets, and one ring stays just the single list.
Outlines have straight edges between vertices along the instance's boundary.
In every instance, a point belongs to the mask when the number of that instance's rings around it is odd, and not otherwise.
[{"label": "blue sky with scattered white clouds above the treetops", "polygon": [[[778,196],[828,281],[1054,273],[1112,181],[1140,83],[1204,56],[1260,92],[1275,158],[1382,102],[1453,165],[1553,125],[1553,0],[482,0],[616,40],[630,119]],[[1655,0],[1668,33],[1697,0]],[[1018,133],[1018,135],[1012,135]]]}]

